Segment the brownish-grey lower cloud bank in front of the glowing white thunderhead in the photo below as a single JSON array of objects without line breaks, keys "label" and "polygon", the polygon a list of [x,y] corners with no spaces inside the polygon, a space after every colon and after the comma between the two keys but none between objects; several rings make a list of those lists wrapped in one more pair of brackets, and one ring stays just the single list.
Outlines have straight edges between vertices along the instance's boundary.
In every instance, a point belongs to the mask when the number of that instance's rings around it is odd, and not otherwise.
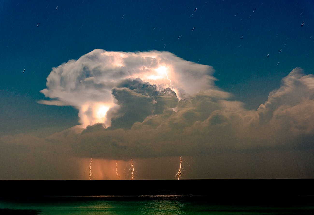
[{"label": "brownish-grey lower cloud bank in front of the glowing white thunderhead", "polygon": [[108,159],[313,148],[309,142],[314,137],[313,83],[312,75],[296,68],[258,110],[228,101],[226,92],[203,90],[191,100],[178,100],[176,112],[165,108],[127,129],[89,126],[72,146],[78,156]]}]

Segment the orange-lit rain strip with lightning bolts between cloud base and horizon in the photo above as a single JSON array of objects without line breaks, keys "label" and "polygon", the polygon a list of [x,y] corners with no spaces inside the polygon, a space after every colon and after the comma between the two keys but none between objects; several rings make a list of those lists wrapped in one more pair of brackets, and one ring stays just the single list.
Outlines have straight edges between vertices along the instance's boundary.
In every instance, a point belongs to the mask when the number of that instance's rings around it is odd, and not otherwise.
[{"label": "orange-lit rain strip with lightning bolts between cloud base and horizon", "polygon": [[[187,160],[186,160],[187,159]],[[187,162],[188,161],[188,162]],[[189,157],[104,159],[75,158],[79,180],[140,180],[189,178]],[[169,163],[170,162],[170,163]],[[191,164],[191,165],[190,165]],[[140,173],[140,174],[138,174]],[[175,174],[175,175],[174,175]],[[183,175],[182,175],[183,174]],[[175,178],[174,178],[175,177]],[[183,178],[182,178],[183,177]]]}]

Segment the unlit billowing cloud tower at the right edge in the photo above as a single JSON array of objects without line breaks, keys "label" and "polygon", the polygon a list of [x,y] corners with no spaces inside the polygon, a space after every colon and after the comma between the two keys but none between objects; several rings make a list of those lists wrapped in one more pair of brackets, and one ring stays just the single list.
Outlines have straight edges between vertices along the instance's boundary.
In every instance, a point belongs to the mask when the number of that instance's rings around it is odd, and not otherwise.
[{"label": "unlit billowing cloud tower at the right edge", "polygon": [[314,76],[295,68],[258,110],[261,123],[291,134],[314,133]]}]

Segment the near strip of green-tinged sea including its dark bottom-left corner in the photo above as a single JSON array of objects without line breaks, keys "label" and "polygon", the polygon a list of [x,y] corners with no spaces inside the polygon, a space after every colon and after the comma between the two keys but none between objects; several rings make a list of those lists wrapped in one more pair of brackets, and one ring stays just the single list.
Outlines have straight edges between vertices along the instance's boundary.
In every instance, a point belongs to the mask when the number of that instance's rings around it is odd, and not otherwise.
[{"label": "near strip of green-tinged sea including its dark bottom-left corner", "polygon": [[314,214],[313,203],[247,202],[206,196],[76,196],[0,199],[0,214]]}]

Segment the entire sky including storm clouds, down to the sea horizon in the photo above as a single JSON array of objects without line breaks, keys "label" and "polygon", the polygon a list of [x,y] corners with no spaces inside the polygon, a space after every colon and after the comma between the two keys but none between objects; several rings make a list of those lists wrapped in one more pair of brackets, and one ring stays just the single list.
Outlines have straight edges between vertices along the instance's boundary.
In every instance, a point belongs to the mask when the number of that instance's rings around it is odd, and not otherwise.
[{"label": "entire sky including storm clouds, down to the sea horizon", "polygon": [[0,27],[0,180],[314,177],[313,1],[3,0]]}]

